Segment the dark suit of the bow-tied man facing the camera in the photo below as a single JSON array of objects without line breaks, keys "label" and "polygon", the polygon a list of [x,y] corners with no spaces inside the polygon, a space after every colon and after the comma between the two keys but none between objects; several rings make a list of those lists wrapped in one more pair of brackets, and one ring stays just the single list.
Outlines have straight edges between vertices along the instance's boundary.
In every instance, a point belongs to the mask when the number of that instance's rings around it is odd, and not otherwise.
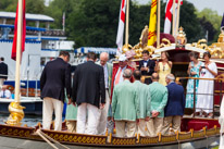
[{"label": "dark suit of the bow-tied man facing the camera", "polygon": [[[140,70],[142,66],[144,66],[144,60],[141,60],[141,61],[139,62],[139,70]],[[141,71],[141,75],[151,76],[152,73],[154,73],[154,66],[155,66],[154,61],[153,61],[153,60],[148,60],[148,62],[147,62],[147,67],[149,69],[149,72],[147,72],[147,71]],[[151,83],[152,83],[151,78],[146,78],[146,79],[145,79],[145,84],[151,84]]]}]

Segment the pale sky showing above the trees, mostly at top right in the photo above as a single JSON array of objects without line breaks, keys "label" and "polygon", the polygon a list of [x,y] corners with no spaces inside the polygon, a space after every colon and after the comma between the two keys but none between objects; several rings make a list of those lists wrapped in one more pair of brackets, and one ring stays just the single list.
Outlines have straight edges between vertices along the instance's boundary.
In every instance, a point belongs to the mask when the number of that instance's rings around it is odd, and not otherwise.
[{"label": "pale sky showing above the trees, mostly at top right", "polygon": [[[136,0],[136,1],[142,4],[151,2],[151,0]],[[196,9],[199,11],[209,8],[213,11],[217,11],[219,15],[223,15],[224,13],[224,0],[187,0],[187,1],[194,3]]]}]

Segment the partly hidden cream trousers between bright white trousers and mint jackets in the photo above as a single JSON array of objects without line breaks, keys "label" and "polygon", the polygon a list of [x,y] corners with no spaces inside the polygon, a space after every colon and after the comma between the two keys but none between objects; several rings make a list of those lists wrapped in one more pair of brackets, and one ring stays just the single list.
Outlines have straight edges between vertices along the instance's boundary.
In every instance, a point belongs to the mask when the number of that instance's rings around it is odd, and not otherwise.
[{"label": "partly hidden cream trousers between bright white trousers and mint jackets", "polygon": [[108,90],[105,90],[105,105],[103,109],[99,109],[99,125],[97,127],[98,135],[104,135],[107,129],[107,122],[108,122],[108,110],[110,105],[110,97]]}]

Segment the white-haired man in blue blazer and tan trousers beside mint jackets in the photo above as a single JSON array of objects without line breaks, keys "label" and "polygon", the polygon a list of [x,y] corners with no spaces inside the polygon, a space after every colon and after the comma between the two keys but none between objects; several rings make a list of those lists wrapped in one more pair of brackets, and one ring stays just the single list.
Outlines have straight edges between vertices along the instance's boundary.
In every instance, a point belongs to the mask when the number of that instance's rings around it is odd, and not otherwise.
[{"label": "white-haired man in blue blazer and tan trousers beside mint jackets", "polygon": [[167,84],[167,103],[164,110],[164,121],[163,121],[163,135],[171,135],[170,125],[172,124],[172,129],[174,132],[181,131],[182,116],[185,110],[185,94],[184,88],[177,85],[175,82],[175,76],[169,74],[165,77]]}]

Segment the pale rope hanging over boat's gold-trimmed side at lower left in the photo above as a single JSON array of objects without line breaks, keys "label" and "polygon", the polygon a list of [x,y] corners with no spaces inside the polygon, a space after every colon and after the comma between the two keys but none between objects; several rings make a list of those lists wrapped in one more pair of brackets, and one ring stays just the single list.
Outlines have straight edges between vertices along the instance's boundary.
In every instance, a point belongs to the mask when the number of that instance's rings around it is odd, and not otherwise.
[{"label": "pale rope hanging over boat's gold-trimmed side at lower left", "polygon": [[49,137],[48,135],[46,135],[41,129],[37,129],[37,134],[54,149],[59,149],[59,148],[55,147],[51,141],[53,141],[57,145],[60,145],[61,147],[63,147],[65,149],[70,149],[66,146],[64,146],[64,145],[60,144],[59,141],[57,141],[55,139],[53,139],[53,138]]}]

